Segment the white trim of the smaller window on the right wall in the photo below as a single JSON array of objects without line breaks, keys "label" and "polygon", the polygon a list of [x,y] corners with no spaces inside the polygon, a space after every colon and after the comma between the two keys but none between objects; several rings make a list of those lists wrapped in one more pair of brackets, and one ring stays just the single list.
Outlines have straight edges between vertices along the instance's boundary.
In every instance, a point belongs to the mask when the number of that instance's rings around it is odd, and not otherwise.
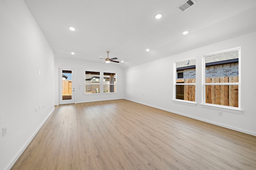
[{"label": "white trim of the smaller window on the right wall", "polygon": [[[192,57],[192,58],[188,58],[188,59],[183,59],[183,60],[179,60],[179,61],[175,61],[174,62],[174,81],[173,81],[173,100],[174,102],[176,103],[180,103],[180,104],[187,104],[187,105],[190,105],[190,106],[196,106],[196,96],[195,96],[195,102],[193,101],[188,101],[188,100],[180,100],[180,99],[176,99],[176,85],[195,85],[196,86],[196,83],[176,83],[176,78],[177,78],[177,70],[176,70],[176,66],[177,64],[176,63],[179,63],[179,62],[182,62],[182,61],[188,61],[188,60],[194,60],[196,59],[196,57]],[[183,78],[184,78],[184,74],[183,74]],[[196,92],[195,92],[196,94]]]}]

